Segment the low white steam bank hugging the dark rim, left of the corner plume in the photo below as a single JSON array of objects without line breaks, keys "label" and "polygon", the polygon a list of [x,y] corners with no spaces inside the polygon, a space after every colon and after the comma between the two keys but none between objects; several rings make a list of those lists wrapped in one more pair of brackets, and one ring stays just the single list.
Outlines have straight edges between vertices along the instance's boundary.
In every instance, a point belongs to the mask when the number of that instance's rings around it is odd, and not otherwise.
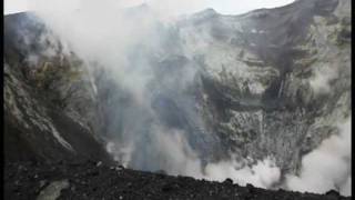
[{"label": "low white steam bank hugging the dark rim, left of the corner plume", "polygon": [[[169,131],[168,134],[166,131]],[[200,158],[183,136],[180,130],[163,130],[162,127],[155,127],[152,146],[158,149],[154,151],[154,156],[159,157],[159,159],[154,159],[156,169],[164,170],[169,174],[191,176],[214,181],[224,181],[230,178],[241,186],[252,183],[260,188],[272,188],[280,181],[281,170],[275,166],[275,160],[272,157],[258,160],[252,166],[246,164],[251,160],[237,162],[232,159],[202,167]],[[110,151],[114,149],[112,146],[114,144],[108,144]],[[118,154],[124,153],[124,150],[119,148]],[[131,152],[125,156],[131,156]]]}]

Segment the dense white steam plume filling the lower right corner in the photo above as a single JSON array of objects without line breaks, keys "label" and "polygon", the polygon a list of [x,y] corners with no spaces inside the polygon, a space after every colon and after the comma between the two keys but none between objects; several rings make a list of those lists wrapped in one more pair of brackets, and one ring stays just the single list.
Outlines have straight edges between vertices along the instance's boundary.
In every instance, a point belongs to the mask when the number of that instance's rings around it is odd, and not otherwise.
[{"label": "dense white steam plume filling the lower right corner", "polygon": [[324,193],[331,189],[351,196],[352,120],[302,159],[300,176],[287,176],[287,188]]}]

